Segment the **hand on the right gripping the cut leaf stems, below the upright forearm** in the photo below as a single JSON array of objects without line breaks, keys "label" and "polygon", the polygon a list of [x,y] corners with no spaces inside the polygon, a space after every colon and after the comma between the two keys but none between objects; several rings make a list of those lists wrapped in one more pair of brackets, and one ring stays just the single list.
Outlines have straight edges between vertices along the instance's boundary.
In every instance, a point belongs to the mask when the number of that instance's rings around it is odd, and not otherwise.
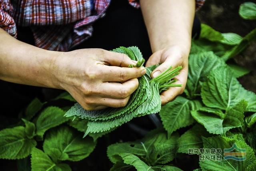
[{"label": "hand on the right gripping the cut leaf stems, below the upright forearm", "polygon": [[170,87],[160,94],[162,105],[172,101],[176,96],[182,94],[186,87],[188,78],[188,55],[190,49],[182,48],[179,45],[173,45],[168,48],[154,52],[146,63],[146,67],[161,63],[151,73],[151,77],[154,78],[160,73],[164,72],[170,66],[175,67],[182,66],[179,71],[180,74],[175,77],[178,81],[174,84],[182,84],[182,87]]}]

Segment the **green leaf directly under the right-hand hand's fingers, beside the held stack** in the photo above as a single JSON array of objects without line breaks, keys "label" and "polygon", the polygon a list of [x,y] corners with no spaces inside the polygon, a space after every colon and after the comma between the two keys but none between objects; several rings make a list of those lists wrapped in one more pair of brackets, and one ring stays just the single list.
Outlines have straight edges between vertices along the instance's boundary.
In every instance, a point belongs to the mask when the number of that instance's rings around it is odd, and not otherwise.
[{"label": "green leaf directly under the right-hand hand's fingers, beside the held stack", "polygon": [[188,100],[182,96],[178,96],[173,102],[162,106],[160,117],[165,130],[168,132],[168,137],[179,128],[191,125],[194,119],[190,111],[200,107],[200,101]]}]

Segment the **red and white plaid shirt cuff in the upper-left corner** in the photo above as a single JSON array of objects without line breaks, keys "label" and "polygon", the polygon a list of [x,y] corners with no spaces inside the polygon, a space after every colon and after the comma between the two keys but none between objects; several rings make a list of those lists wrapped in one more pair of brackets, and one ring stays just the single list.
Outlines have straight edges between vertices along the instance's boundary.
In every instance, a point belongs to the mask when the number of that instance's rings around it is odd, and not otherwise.
[{"label": "red and white plaid shirt cuff in the upper-left corner", "polygon": [[17,28],[14,19],[10,15],[11,12],[10,0],[0,0],[0,28],[16,38]]}]

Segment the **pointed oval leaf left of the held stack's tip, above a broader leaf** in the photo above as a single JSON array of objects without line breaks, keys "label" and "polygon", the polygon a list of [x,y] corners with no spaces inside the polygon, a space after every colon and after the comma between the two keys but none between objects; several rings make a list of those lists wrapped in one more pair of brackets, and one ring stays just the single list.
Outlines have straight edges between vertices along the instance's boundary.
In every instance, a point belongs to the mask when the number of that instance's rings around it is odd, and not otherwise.
[{"label": "pointed oval leaf left of the held stack's tip, above a broader leaf", "polygon": [[64,117],[65,112],[54,106],[45,108],[36,120],[36,134],[43,136],[46,130],[58,126],[68,120]]}]

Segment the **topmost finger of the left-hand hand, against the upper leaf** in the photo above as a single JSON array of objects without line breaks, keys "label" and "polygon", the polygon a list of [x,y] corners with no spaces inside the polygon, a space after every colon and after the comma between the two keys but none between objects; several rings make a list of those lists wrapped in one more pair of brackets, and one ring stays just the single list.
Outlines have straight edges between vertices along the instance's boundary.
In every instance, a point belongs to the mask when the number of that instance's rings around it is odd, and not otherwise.
[{"label": "topmost finger of the left-hand hand, against the upper leaf", "polygon": [[117,53],[109,51],[109,56],[106,55],[104,62],[106,65],[117,66],[117,67],[129,67],[130,64],[136,65],[137,62],[130,59],[124,53]]}]

